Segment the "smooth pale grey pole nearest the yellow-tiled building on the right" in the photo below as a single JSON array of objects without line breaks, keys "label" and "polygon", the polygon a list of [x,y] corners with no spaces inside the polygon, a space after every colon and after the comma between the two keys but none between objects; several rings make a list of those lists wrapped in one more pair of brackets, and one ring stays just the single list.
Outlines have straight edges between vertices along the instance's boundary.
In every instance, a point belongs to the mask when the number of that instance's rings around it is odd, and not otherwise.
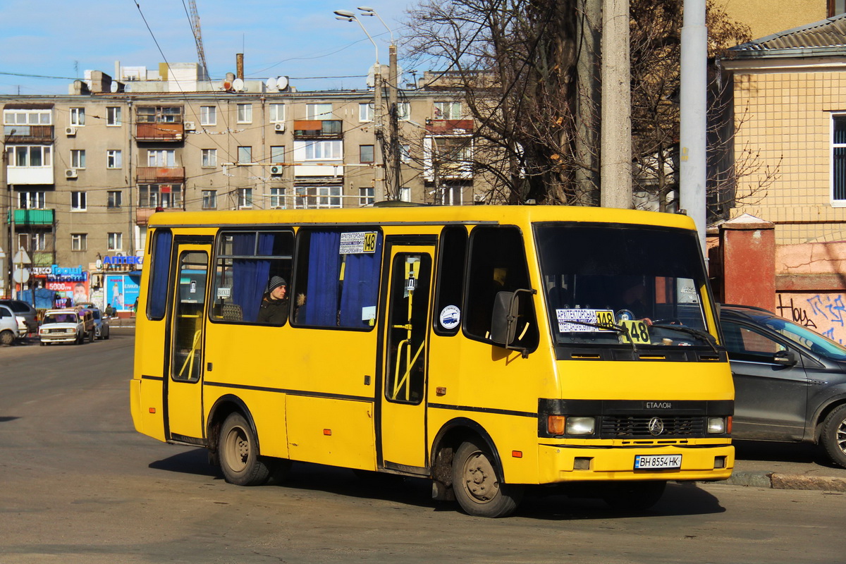
[{"label": "smooth pale grey pole nearest the yellow-tiled building on the right", "polygon": [[682,209],[696,223],[702,254],[705,246],[706,205],[706,86],[708,29],[705,0],[684,0],[681,56],[681,122],[678,185]]}]

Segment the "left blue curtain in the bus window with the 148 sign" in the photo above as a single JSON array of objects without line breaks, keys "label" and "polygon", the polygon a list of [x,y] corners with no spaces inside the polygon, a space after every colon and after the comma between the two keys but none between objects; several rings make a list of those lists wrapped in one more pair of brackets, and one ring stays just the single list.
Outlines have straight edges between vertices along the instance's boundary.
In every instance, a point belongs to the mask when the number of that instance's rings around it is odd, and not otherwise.
[{"label": "left blue curtain in the bus window with the 148 sign", "polygon": [[309,242],[308,295],[302,323],[311,326],[338,326],[338,278],[341,260],[338,249],[341,234],[312,232]]}]

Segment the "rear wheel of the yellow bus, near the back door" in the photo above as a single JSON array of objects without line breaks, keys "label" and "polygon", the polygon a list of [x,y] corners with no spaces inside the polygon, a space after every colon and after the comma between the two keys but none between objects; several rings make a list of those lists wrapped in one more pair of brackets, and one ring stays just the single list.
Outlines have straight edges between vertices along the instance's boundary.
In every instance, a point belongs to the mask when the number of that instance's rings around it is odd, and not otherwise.
[{"label": "rear wheel of the yellow bus, near the back door", "polygon": [[272,463],[259,456],[255,433],[240,413],[230,413],[223,421],[217,452],[223,477],[230,484],[263,485],[271,477]]}]

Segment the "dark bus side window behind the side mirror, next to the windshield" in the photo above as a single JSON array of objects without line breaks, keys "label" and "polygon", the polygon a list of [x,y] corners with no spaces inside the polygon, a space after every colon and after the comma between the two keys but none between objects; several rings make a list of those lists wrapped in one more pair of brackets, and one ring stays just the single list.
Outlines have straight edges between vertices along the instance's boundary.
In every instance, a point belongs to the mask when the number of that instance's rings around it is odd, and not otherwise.
[{"label": "dark bus side window behind the side mirror, next to the windshield", "polygon": [[[464,304],[464,331],[470,337],[491,342],[493,304],[499,292],[531,289],[523,235],[516,227],[475,227],[470,233],[470,263]],[[518,294],[520,319],[517,340],[512,343],[530,351],[537,347],[538,331],[534,300]]]}]

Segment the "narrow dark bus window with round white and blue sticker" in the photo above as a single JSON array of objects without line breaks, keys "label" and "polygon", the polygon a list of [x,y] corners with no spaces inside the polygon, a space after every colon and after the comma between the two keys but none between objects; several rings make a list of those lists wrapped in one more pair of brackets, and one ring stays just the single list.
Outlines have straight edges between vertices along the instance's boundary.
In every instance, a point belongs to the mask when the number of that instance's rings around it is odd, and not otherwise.
[{"label": "narrow dark bus window with round white and blue sticker", "polygon": [[438,245],[437,298],[432,315],[438,335],[456,335],[459,332],[466,258],[467,229],[464,226],[444,227]]}]

